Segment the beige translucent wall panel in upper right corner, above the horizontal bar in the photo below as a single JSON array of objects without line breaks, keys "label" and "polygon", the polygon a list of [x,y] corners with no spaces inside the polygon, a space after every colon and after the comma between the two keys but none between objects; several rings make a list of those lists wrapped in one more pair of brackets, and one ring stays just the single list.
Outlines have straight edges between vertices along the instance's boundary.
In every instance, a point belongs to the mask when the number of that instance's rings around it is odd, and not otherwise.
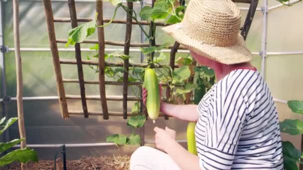
[{"label": "beige translucent wall panel in upper right corner, above the horizontal bar", "polygon": [[303,51],[303,3],[272,9],[268,15],[268,52]]}]

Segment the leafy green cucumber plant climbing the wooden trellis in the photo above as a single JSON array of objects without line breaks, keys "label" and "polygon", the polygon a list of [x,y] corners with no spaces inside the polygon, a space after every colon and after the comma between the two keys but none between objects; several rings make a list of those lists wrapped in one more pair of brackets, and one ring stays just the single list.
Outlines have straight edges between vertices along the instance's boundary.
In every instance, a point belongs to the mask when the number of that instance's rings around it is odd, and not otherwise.
[{"label": "leafy green cucumber plant climbing the wooden trellis", "polygon": [[[107,0],[115,6],[115,11],[112,19],[104,24],[104,25],[96,25],[96,19],[93,19],[90,22],[86,22],[81,24],[68,32],[68,42],[66,43],[66,47],[69,45],[74,45],[75,43],[83,42],[88,36],[92,35],[96,27],[105,27],[113,22],[116,17],[116,13],[118,8],[123,8],[126,12],[132,13],[132,18],[138,23],[141,30],[144,32],[147,39],[154,39],[154,34],[149,35],[143,28],[142,25],[138,22],[138,16],[136,11],[129,9],[122,3],[122,0]],[[137,0],[129,0],[129,1],[137,1]],[[154,6],[144,6],[142,10],[139,12],[139,16],[142,20],[146,20],[148,22],[164,22],[167,24],[178,23],[182,21],[184,16],[184,5],[179,5],[176,0],[156,0]],[[155,24],[150,24],[150,32],[155,32]],[[163,52],[159,52],[162,48],[167,47],[169,44],[164,43],[160,46],[152,46],[145,48],[140,48],[143,54],[148,55],[148,68],[153,68],[156,72],[156,76],[159,82],[167,84],[171,88],[170,98],[163,98],[164,101],[170,103],[184,103],[185,94],[195,90],[195,97],[193,102],[200,100],[204,95],[207,88],[214,83],[214,73],[208,69],[203,67],[195,67],[192,63],[192,58],[189,57],[179,57],[177,59],[177,64],[179,65],[178,69],[172,70],[169,66],[162,66],[160,63],[166,59],[166,55]],[[98,51],[99,45],[95,44],[90,48],[91,50],[96,51],[96,54],[93,56],[87,56],[87,60],[97,60],[98,59]],[[151,55],[151,53],[156,53],[156,56]],[[119,51],[114,53],[108,53],[104,56],[105,60],[118,58],[121,60],[130,60],[130,69],[129,69],[129,78],[128,82],[144,82],[145,69],[134,67],[132,65],[131,57],[128,55],[124,55]],[[95,72],[99,72],[98,66],[89,66]],[[107,77],[112,78],[116,81],[123,81],[122,74],[125,72],[123,67],[106,67],[105,74]],[[194,76],[194,72],[196,72],[197,83],[188,83],[187,80],[190,76]],[[139,97],[140,91],[136,92],[131,86],[133,93]],[[202,92],[202,93],[200,93]],[[196,94],[200,93],[200,94]],[[132,106],[132,114],[128,118],[127,126],[133,128],[133,132],[129,135],[125,134],[114,134],[106,137],[107,142],[114,142],[117,146],[123,145],[136,145],[141,143],[141,138],[139,135],[135,134],[136,128],[141,128],[144,126],[146,122],[146,116],[140,111],[140,103],[136,102]]]}]

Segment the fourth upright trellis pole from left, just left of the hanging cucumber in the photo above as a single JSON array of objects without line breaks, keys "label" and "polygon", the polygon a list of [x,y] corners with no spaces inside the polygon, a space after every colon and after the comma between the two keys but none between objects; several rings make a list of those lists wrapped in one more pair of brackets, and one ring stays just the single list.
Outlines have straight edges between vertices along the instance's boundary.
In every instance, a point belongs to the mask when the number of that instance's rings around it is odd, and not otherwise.
[{"label": "fourth upright trellis pole from left, just left of the hanging cucumber", "polygon": [[[130,44],[132,38],[132,21],[133,21],[133,2],[128,1],[127,7],[129,11],[126,15],[126,31],[125,31],[125,46],[124,54],[130,55]],[[123,118],[127,119],[127,94],[128,94],[128,78],[129,78],[129,59],[124,60],[124,73],[123,73]]]}]

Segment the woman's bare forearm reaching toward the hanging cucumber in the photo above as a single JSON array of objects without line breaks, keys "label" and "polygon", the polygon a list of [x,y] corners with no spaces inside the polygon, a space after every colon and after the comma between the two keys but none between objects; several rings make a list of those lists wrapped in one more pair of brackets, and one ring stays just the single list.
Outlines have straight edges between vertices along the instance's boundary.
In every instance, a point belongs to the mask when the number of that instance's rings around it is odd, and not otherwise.
[{"label": "woman's bare forearm reaching toward the hanging cucumber", "polygon": [[196,122],[199,119],[196,104],[170,104],[161,102],[160,112],[180,120]]}]

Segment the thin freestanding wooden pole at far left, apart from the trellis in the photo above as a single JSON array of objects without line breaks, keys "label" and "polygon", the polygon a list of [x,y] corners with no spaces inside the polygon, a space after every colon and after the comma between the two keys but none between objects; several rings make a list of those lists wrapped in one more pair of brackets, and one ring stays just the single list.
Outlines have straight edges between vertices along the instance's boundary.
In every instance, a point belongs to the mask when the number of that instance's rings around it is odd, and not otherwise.
[{"label": "thin freestanding wooden pole at far left, apart from the trellis", "polygon": [[[16,79],[17,79],[17,109],[18,109],[18,128],[21,141],[21,149],[26,148],[26,134],[23,114],[23,81],[22,81],[22,63],[20,54],[20,37],[19,37],[19,0],[13,0],[13,37],[16,60]],[[21,170],[26,170],[26,164],[21,164]]]}]

